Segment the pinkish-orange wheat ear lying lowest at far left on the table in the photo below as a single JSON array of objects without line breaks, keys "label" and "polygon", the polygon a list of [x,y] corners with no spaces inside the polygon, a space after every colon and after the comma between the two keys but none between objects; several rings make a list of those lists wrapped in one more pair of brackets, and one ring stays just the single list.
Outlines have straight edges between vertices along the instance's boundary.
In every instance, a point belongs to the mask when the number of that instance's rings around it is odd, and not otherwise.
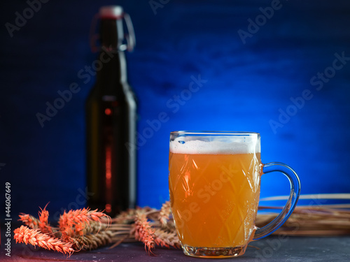
[{"label": "pinkish-orange wheat ear lying lowest at far left on the table", "polygon": [[16,243],[29,243],[31,245],[38,245],[44,249],[54,250],[61,252],[63,254],[69,254],[69,256],[74,252],[71,243],[62,242],[58,238],[52,238],[46,233],[40,233],[38,229],[30,229],[27,226],[20,226],[16,228],[14,239]]}]

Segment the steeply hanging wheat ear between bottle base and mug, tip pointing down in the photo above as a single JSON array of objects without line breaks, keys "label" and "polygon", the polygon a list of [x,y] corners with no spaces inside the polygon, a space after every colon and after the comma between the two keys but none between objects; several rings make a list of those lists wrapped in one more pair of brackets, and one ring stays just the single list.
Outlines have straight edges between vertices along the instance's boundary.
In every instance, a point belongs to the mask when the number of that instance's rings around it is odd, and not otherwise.
[{"label": "steeply hanging wheat ear between bottle base and mug, tip pointing down", "polygon": [[144,242],[145,249],[148,249],[148,253],[151,252],[151,249],[155,246],[154,231],[147,220],[146,214],[141,210],[137,210],[136,212],[134,229],[131,233],[134,233],[136,240]]}]

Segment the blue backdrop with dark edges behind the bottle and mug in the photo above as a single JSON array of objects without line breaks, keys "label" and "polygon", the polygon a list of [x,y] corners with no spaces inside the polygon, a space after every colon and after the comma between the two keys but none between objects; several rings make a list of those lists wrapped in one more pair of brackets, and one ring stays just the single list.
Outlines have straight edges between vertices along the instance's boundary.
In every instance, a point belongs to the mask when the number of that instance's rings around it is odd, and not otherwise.
[{"label": "blue backdrop with dark edges behind the bottle and mug", "polygon": [[[350,57],[350,2],[281,1],[265,20],[259,8],[271,1],[162,3],[155,9],[149,1],[50,0],[10,37],[6,23],[15,24],[15,12],[23,15],[29,5],[1,1],[1,216],[5,182],[13,217],[36,214],[49,201],[55,215],[85,206],[84,103],[94,77],[84,83],[77,74],[97,59],[89,30],[107,4],[130,13],[137,36],[127,59],[139,139],[148,137],[139,148],[139,205],[160,208],[169,198],[168,140],[175,130],[259,132],[262,161],[292,166],[302,194],[350,192],[350,61],[328,68],[335,53]],[[242,41],[238,31],[248,32],[249,19],[261,26]],[[318,72],[332,77],[310,82]],[[79,92],[41,127],[36,114],[72,82]],[[197,92],[186,91],[190,85]],[[312,98],[296,108],[292,100],[307,89]],[[293,116],[281,118],[282,111]],[[161,112],[167,121],[150,134]],[[288,187],[285,177],[266,175],[261,196],[286,195]]]}]

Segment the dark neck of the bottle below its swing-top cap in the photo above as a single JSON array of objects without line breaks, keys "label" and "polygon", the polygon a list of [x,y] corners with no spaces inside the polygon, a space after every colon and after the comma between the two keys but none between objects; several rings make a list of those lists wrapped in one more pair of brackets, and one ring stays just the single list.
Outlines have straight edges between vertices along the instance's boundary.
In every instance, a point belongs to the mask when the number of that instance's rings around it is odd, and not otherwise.
[{"label": "dark neck of the bottle below its swing-top cap", "polygon": [[118,85],[127,82],[127,63],[125,53],[119,50],[123,43],[122,20],[101,20],[101,45],[97,69],[97,82],[100,88],[116,92]]}]

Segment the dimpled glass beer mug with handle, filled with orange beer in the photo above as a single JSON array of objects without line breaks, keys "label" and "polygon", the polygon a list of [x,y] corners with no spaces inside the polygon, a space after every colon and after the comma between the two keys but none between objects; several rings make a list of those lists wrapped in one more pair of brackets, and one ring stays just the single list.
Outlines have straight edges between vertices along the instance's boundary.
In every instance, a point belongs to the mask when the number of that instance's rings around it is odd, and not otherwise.
[{"label": "dimpled glass beer mug with handle, filled with orange beer", "polygon": [[[279,171],[290,196],[279,216],[255,226],[262,174]],[[174,131],[169,145],[169,194],[183,252],[188,256],[241,256],[248,243],[276,231],[300,194],[295,171],[283,163],[261,163],[260,134],[233,131]]]}]

